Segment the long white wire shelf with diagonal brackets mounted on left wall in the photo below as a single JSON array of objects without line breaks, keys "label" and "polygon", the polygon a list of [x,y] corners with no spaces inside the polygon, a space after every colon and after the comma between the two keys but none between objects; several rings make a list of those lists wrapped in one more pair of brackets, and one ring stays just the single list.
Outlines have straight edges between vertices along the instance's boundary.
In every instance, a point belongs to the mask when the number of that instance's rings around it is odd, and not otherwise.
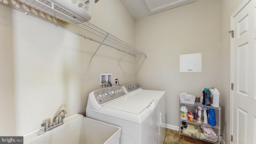
[{"label": "long white wire shelf with diagonal brackets mounted on left wall", "polygon": [[[46,22],[50,22],[56,26],[60,26],[61,28],[84,38],[88,38],[94,42],[98,42],[100,45],[92,55],[91,61],[102,45],[120,50],[125,53],[124,56],[130,54],[132,56],[147,57],[147,54],[144,52],[137,50],[126,42],[112,36],[108,32],[98,28],[83,18],[76,16],[76,14],[50,0],[0,0],[0,3],[24,12],[25,14],[40,18]],[[124,56],[122,58],[124,58]]]}]

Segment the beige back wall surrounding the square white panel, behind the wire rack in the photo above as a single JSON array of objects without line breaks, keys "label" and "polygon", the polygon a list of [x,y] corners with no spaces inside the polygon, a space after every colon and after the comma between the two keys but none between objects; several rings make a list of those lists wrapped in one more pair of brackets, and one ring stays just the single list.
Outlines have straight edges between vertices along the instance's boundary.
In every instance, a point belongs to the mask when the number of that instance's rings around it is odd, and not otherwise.
[{"label": "beige back wall surrounding the square white panel, behind the wire rack", "polygon": [[[138,64],[144,89],[166,91],[166,123],[177,126],[179,93],[202,96],[221,90],[220,0],[199,0],[136,20],[136,47],[148,54]],[[179,55],[202,53],[201,73],[180,73]]]}]

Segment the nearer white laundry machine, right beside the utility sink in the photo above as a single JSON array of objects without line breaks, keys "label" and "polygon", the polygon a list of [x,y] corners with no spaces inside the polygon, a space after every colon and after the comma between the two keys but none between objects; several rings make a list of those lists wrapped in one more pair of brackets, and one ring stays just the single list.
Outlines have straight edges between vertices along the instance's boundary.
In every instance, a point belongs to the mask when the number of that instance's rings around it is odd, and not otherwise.
[{"label": "nearer white laundry machine, right beside the utility sink", "polygon": [[158,144],[158,111],[158,100],[112,86],[89,94],[86,117],[121,127],[120,144]]}]

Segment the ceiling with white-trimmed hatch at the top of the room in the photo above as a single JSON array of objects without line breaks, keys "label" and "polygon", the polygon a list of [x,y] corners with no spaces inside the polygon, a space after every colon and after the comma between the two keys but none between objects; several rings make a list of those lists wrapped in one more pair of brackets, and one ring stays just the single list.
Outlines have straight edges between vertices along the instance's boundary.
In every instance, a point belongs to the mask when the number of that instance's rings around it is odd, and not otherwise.
[{"label": "ceiling with white-trimmed hatch at the top of the room", "polygon": [[195,1],[197,0],[120,0],[135,19]]}]

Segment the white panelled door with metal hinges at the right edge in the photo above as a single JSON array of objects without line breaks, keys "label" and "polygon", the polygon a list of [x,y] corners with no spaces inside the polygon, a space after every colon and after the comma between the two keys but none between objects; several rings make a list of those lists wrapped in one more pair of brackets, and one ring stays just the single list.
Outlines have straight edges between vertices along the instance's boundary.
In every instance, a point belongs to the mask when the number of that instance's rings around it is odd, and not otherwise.
[{"label": "white panelled door with metal hinges at the right edge", "polygon": [[232,14],[231,27],[233,144],[256,144],[256,0],[245,0]]}]

